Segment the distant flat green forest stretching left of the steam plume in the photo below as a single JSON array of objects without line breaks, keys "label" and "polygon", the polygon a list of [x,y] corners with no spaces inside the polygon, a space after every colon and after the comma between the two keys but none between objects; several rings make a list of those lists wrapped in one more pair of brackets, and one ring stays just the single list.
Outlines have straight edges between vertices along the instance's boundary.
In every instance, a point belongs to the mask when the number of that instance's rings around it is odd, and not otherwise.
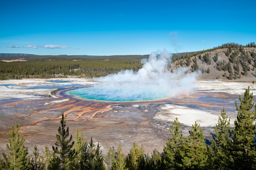
[{"label": "distant flat green forest stretching left of the steam plume", "polygon": [[138,71],[141,59],[148,55],[67,57],[45,56],[26,62],[0,62],[0,80],[22,78],[54,78],[76,75],[101,77],[121,70]]}]

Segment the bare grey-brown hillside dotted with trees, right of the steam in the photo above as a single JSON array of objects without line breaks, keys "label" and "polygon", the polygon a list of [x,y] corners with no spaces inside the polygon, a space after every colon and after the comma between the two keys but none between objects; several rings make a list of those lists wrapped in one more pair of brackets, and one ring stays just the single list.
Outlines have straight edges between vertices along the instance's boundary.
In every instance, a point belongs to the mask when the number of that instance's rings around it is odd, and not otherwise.
[{"label": "bare grey-brown hillside dotted with trees, right of the steam", "polygon": [[227,43],[213,49],[196,53],[181,53],[173,57],[171,71],[189,67],[190,72],[199,71],[206,79],[240,79],[256,77],[256,44],[245,46]]}]

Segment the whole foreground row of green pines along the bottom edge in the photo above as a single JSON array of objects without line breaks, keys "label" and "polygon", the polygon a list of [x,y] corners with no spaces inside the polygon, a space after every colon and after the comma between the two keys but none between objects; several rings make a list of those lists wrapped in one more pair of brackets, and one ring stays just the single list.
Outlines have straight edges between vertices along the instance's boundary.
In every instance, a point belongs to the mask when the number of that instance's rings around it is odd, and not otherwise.
[{"label": "whole foreground row of green pines along the bottom edge", "polygon": [[256,110],[249,87],[236,102],[238,111],[235,127],[230,128],[230,119],[223,108],[214,127],[211,144],[205,143],[200,125],[195,122],[188,136],[183,136],[179,120],[174,119],[170,138],[163,152],[156,149],[145,153],[144,146],[133,144],[124,155],[121,144],[117,150],[109,148],[103,158],[99,143],[85,139],[77,129],[75,138],[62,115],[55,146],[52,151],[45,147],[39,154],[37,146],[28,153],[25,138],[18,134],[18,123],[9,132],[9,153],[3,153],[0,169],[3,170],[255,170],[256,169]]}]

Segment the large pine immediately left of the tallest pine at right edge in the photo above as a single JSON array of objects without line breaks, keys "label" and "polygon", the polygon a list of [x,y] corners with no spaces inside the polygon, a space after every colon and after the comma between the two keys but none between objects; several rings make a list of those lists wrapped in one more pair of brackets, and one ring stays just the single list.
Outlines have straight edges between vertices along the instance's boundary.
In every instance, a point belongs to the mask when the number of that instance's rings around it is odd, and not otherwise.
[{"label": "large pine immediately left of the tallest pine at right edge", "polygon": [[213,150],[213,167],[216,170],[230,170],[234,162],[231,157],[231,130],[230,119],[223,107],[218,124],[214,126],[215,134],[211,140],[211,149]]}]

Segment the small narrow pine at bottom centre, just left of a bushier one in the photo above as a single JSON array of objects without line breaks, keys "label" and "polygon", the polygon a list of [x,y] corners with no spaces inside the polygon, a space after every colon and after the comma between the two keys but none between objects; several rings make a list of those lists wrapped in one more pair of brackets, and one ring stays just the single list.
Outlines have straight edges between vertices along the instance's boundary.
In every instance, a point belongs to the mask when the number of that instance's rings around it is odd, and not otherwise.
[{"label": "small narrow pine at bottom centre, just left of a bushier one", "polygon": [[113,170],[128,170],[128,168],[126,168],[125,156],[121,144],[119,144],[117,152],[115,153],[115,161],[113,162],[112,168]]}]

